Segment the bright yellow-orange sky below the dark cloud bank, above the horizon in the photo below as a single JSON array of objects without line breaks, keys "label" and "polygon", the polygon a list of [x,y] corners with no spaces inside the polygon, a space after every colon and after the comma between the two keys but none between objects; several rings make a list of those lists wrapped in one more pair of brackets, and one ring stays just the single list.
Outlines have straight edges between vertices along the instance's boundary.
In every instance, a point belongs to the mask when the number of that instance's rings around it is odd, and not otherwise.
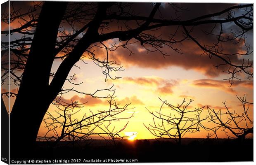
[{"label": "bright yellow-orange sky below the dark cloud bank, above the horizon", "polygon": [[[138,48],[139,49],[139,48]],[[123,54],[120,56],[128,56]],[[135,54],[133,56],[142,56],[141,54]],[[161,56],[155,54],[155,56]],[[183,56],[183,55],[181,55]],[[195,54],[194,56],[199,56]],[[162,58],[163,61],[168,60]],[[170,56],[171,58],[171,56]],[[147,63],[144,59],[144,62]],[[82,62],[78,62],[78,66],[74,67],[70,75],[76,73],[76,83],[83,82],[81,85],[73,86],[69,82],[66,82],[64,88],[74,87],[78,91],[84,91],[86,93],[93,93],[97,89],[109,88],[114,84],[116,88],[116,102],[121,105],[125,105],[131,102],[130,108],[123,112],[122,116],[128,116],[132,112],[135,112],[131,119],[113,122],[113,126],[121,128],[129,121],[128,126],[123,131],[125,132],[137,132],[135,139],[151,139],[154,136],[145,128],[145,125],[153,123],[152,116],[149,114],[147,109],[150,111],[158,111],[161,106],[162,100],[168,100],[169,103],[177,104],[181,103],[185,98],[187,101],[191,98],[194,102],[191,103],[190,109],[200,108],[206,106],[202,112],[202,116],[206,116],[207,105],[214,109],[225,109],[222,102],[226,101],[226,105],[230,110],[236,110],[236,112],[242,112],[242,107],[239,105],[239,101],[236,95],[243,96],[247,95],[247,100],[252,100],[253,95],[253,82],[244,80],[237,81],[232,87],[229,88],[228,81],[223,81],[225,74],[219,74],[218,76],[211,77],[205,75],[204,68],[191,68],[185,69],[179,66],[165,66],[160,68],[152,67],[140,67],[137,65],[126,64],[126,61],[121,61],[124,64],[125,71],[114,72],[113,75],[116,77],[122,77],[121,79],[108,80],[104,82],[104,75],[102,70],[92,63],[91,60],[85,60],[87,65]],[[158,63],[158,61],[156,62]],[[175,63],[175,62],[174,62]],[[56,67],[58,62],[56,61]],[[212,70],[215,68],[209,64]],[[53,70],[56,68],[53,68]],[[209,70],[209,69],[208,69]],[[215,71],[213,71],[215,72]],[[106,93],[100,93],[106,95]],[[77,93],[70,92],[62,95],[64,101],[78,100],[80,102],[86,102],[83,112],[88,112],[89,109],[93,111],[108,109],[106,99],[92,98],[88,95],[80,95]],[[147,109],[146,109],[147,108]],[[251,107],[252,109],[252,107]],[[54,107],[49,109],[50,112],[54,113]],[[168,111],[168,109],[166,109]],[[81,113],[83,113],[81,112]],[[80,114],[81,115],[81,114]],[[79,114],[78,114],[79,116]],[[206,123],[207,125],[207,123]],[[40,135],[44,134],[43,125],[41,125]],[[207,132],[200,130],[196,133],[187,133],[185,137],[206,137]],[[219,137],[227,137],[225,132],[218,132]]]}]

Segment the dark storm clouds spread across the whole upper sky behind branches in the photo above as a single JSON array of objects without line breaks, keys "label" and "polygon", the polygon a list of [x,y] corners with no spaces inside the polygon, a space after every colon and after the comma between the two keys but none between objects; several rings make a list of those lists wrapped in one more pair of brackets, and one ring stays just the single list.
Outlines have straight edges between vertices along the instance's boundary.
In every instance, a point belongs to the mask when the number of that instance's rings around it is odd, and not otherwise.
[{"label": "dark storm clouds spread across the whole upper sky behind branches", "polygon": [[[78,3],[78,5],[81,4],[81,6],[84,7],[85,11],[90,11],[89,15],[92,16],[93,10],[92,11],[88,10],[88,8],[92,6],[95,7],[97,2],[90,2],[91,4],[94,4],[94,5],[84,5],[88,2],[70,2],[69,7],[72,7],[74,3]],[[16,6],[17,9],[20,9],[21,12],[25,12],[29,7],[33,5],[33,2],[15,1],[13,2],[13,5]],[[162,3],[160,7],[161,13],[159,11],[156,12],[156,16],[154,18],[160,18],[160,16],[162,16],[165,19],[178,18],[180,20],[188,20],[188,19],[196,18],[201,15],[219,12],[233,5],[236,5],[236,4],[180,3],[178,4],[178,6],[183,7],[183,9],[186,9],[186,10],[175,13],[175,9],[173,7],[171,7],[166,3]],[[127,12],[128,11],[133,12],[134,15],[149,16],[152,8],[153,8],[153,5],[149,3],[135,2],[135,3],[130,3],[130,7],[126,8],[126,10]],[[109,11],[116,12],[117,9],[115,6],[113,6]],[[224,19],[224,17],[225,15],[221,15],[216,18]],[[216,19],[216,18],[213,18],[213,19]],[[135,21],[128,21],[127,25],[133,28],[137,27],[137,23]],[[12,26],[13,27],[19,26],[19,23],[15,21],[14,23],[12,23]],[[61,26],[65,28],[67,33],[71,33],[71,34],[73,33],[71,27],[68,25],[68,23],[66,23],[66,21],[63,21]],[[202,30],[209,31],[213,26],[214,25],[197,26],[196,28],[194,28],[192,36],[197,37],[198,38],[197,40],[202,45],[211,45],[213,43],[216,43],[215,36],[205,35],[205,33],[202,32]],[[81,27],[82,27],[82,24],[76,23],[75,28],[79,29]],[[224,24],[224,28],[225,27],[226,28],[228,27],[228,28],[226,29],[226,33],[224,35],[228,35],[231,28],[232,29],[236,28],[232,24],[229,24],[229,25]],[[155,34],[156,36],[161,35],[163,39],[168,39],[168,36],[172,35],[175,32],[176,28],[177,26],[162,27],[156,31],[146,31],[145,33]],[[219,28],[220,27],[217,26],[216,29],[218,30]],[[108,29],[103,30],[103,33],[108,33],[113,30],[120,30],[120,29],[126,30],[126,27],[124,26],[123,21],[119,21],[119,22],[113,21],[109,23]],[[181,39],[183,37],[182,28],[178,30],[178,33],[176,34],[175,37],[176,39]],[[138,67],[154,68],[154,69],[165,68],[169,66],[179,66],[179,67],[183,67],[185,70],[190,70],[190,69],[196,70],[209,77],[216,77],[219,74],[222,74],[223,70],[227,69],[225,66],[220,66],[218,69],[216,69],[213,65],[218,65],[220,63],[223,63],[223,61],[216,57],[213,57],[212,59],[210,59],[206,55],[201,55],[202,53],[201,49],[199,49],[199,47],[195,45],[194,42],[185,41],[182,44],[174,44],[172,46],[174,49],[175,48],[181,49],[180,52],[182,52],[183,54],[178,54],[172,49],[165,46],[161,50],[164,51],[164,53],[169,54],[170,56],[166,56],[166,58],[164,58],[159,52],[152,53],[152,52],[143,51],[142,46],[140,46],[140,44],[137,43],[137,44],[127,46],[129,47],[129,49],[131,49],[134,52],[134,54],[132,54],[131,56],[128,56],[130,54],[129,51],[126,51],[124,49],[118,49],[114,52],[111,52],[111,58],[113,58],[113,60],[118,60],[119,62],[122,63],[122,65],[125,65],[125,66],[135,65]],[[225,53],[240,53],[244,51],[244,44],[240,42],[236,45],[233,45],[230,42],[226,42],[220,46],[220,49],[221,48],[224,48]],[[232,60],[233,63],[242,62],[241,59],[237,56],[231,56],[230,60]]]}]

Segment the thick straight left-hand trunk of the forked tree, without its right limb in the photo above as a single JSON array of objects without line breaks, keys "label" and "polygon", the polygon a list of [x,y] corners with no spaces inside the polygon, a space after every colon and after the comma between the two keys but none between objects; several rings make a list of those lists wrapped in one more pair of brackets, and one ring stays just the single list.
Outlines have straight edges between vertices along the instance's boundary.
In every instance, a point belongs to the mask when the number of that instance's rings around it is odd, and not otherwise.
[{"label": "thick straight left-hand trunk of the forked tree, without its right limb", "polygon": [[45,2],[40,12],[19,93],[10,115],[11,158],[24,158],[33,153],[40,124],[53,101],[49,91],[50,70],[66,5],[67,2]]}]

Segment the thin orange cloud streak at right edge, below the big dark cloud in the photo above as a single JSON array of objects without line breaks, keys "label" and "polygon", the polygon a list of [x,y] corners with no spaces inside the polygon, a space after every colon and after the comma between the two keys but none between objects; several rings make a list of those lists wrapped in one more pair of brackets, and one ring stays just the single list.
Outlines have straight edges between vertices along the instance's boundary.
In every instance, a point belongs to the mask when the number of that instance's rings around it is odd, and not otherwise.
[{"label": "thin orange cloud streak at right edge, below the big dark cloud", "polygon": [[253,81],[249,81],[249,80],[235,81],[235,83],[231,87],[229,87],[230,86],[229,81],[199,79],[199,80],[193,81],[192,85],[197,87],[203,87],[203,88],[216,88],[220,91],[236,94],[237,91],[234,90],[234,87],[242,86],[245,88],[253,88]]}]

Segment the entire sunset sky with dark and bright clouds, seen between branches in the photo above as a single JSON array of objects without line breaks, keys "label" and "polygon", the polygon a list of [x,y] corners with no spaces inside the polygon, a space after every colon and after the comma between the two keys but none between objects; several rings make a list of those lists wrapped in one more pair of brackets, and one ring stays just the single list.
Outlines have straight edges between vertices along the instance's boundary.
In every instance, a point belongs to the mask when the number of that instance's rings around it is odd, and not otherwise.
[{"label": "entire sunset sky with dark and bright clouds, seen between branches", "polygon": [[[144,4],[143,4],[144,5]],[[182,19],[193,18],[200,14],[209,14],[224,9],[228,4],[185,4],[189,7],[190,11],[185,11],[185,14],[181,16]],[[139,4],[136,5],[139,8]],[[147,13],[150,10],[146,10],[148,5],[145,5],[145,11]],[[198,9],[199,12],[195,12]],[[163,14],[168,15],[169,8],[167,5],[162,4]],[[228,35],[228,32],[232,28],[232,24],[225,24],[224,31]],[[11,24],[11,28],[15,28],[15,22]],[[114,27],[116,28],[116,27]],[[113,28],[113,29],[114,29]],[[209,29],[210,27],[202,27]],[[3,26],[2,26],[3,30]],[[71,29],[66,27],[66,31],[72,33]],[[164,37],[168,37],[173,29],[168,27],[161,28],[156,33],[161,33]],[[207,37],[201,32],[201,28],[194,30],[194,36],[199,37],[201,43],[212,43],[215,40],[213,37]],[[180,34],[179,34],[180,35]],[[205,37],[206,36],[206,37]],[[252,32],[248,33],[247,43],[251,43],[252,46]],[[15,36],[13,36],[15,38]],[[130,41],[132,43],[133,41]],[[105,45],[111,46],[111,44],[119,45],[119,40],[108,40],[104,42]],[[223,49],[227,53],[244,52],[244,43],[233,45],[232,42],[228,42],[222,45]],[[109,52],[109,58],[116,60],[123,66],[123,71],[111,72],[113,77],[121,77],[120,79],[109,79],[105,82],[105,76],[102,74],[102,69],[95,65],[92,60],[88,58],[88,54],[84,53],[83,60],[76,63],[79,67],[73,67],[69,75],[76,74],[76,80],[74,83],[81,83],[74,86],[68,81],[64,84],[64,89],[75,89],[84,93],[94,93],[97,89],[109,88],[114,85],[115,88],[115,100],[121,105],[129,104],[127,111],[123,112],[120,117],[128,117],[133,112],[133,116],[130,119],[124,119],[121,121],[113,121],[112,125],[116,129],[121,129],[128,121],[126,129],[121,132],[122,135],[128,135],[127,132],[136,132],[135,139],[152,139],[155,138],[144,126],[153,123],[152,115],[149,114],[147,109],[151,112],[158,111],[162,105],[162,100],[167,100],[172,105],[180,104],[183,99],[188,102],[190,99],[194,100],[190,104],[190,109],[204,107],[202,117],[208,114],[207,106],[211,109],[225,109],[223,102],[231,111],[242,113],[242,105],[240,104],[237,96],[247,96],[247,100],[253,102],[253,80],[248,80],[243,74],[239,74],[242,78],[241,81],[235,81],[230,87],[230,83],[227,80],[230,75],[223,72],[225,68],[216,69],[214,65],[221,61],[217,58],[210,59],[206,55],[202,55],[201,49],[192,41],[184,41],[182,44],[177,44],[177,47],[181,49],[183,54],[177,53],[168,47],[162,48],[169,56],[162,56],[159,52],[148,52],[145,48],[140,46],[140,43],[134,43],[128,45],[130,52],[127,49],[119,48],[116,51]],[[104,58],[106,56],[105,49],[99,49],[97,47],[92,48],[98,58]],[[242,57],[232,57],[233,60],[240,61]],[[58,66],[62,60],[55,60],[52,66],[52,72],[56,72]],[[17,91],[16,86],[11,86],[12,91]],[[98,96],[105,96],[107,93],[98,93]],[[29,98],[28,98],[29,99]],[[96,112],[97,110],[107,110],[109,105],[107,99],[92,98],[89,95],[78,94],[75,92],[69,92],[62,95],[62,101],[79,101],[87,102],[76,117],[79,118],[83,113],[88,113],[89,110]],[[12,100],[13,101],[13,100]],[[122,106],[120,106],[122,107]],[[250,107],[252,109],[253,107]],[[49,112],[54,114],[57,108],[51,106]],[[168,111],[168,108],[164,110]],[[252,113],[251,113],[252,115]],[[43,136],[46,128],[41,125],[38,135]],[[188,133],[185,137],[201,137],[205,138],[207,132],[200,130],[196,133]],[[227,137],[225,132],[219,132],[219,137]]]}]

